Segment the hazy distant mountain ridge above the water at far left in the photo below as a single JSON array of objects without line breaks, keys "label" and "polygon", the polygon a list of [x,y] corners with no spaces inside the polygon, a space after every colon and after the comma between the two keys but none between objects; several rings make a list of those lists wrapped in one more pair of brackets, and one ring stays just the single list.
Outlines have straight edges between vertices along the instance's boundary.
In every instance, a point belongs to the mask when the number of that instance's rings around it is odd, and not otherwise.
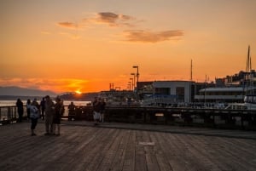
[{"label": "hazy distant mountain ridge above the water at far left", "polygon": [[0,96],[37,96],[43,97],[45,95],[55,96],[55,92],[44,91],[39,89],[20,88],[20,87],[0,87]]}]

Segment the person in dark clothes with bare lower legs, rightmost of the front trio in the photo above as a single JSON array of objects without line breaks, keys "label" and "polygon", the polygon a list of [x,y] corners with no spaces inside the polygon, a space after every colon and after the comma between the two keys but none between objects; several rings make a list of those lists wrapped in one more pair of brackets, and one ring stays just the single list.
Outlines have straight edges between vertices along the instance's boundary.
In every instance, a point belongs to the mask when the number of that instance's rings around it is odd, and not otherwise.
[{"label": "person in dark clothes with bare lower legs, rightmost of the front trio", "polygon": [[63,101],[59,96],[55,99],[55,114],[53,118],[53,133],[55,134],[55,129],[57,129],[57,133],[55,135],[61,135],[61,115],[63,112]]}]

